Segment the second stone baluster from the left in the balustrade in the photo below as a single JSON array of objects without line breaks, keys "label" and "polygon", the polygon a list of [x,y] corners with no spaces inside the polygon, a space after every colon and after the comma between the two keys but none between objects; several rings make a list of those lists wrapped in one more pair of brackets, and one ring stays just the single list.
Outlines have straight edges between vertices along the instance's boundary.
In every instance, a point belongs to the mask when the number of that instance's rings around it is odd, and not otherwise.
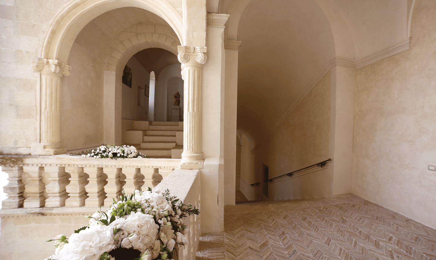
[{"label": "second stone baluster from the left in the balustrade", "polygon": [[45,205],[44,182],[42,182],[42,173],[44,167],[23,166],[23,172],[29,174],[27,184],[24,190],[27,193],[27,199],[24,200],[25,208],[40,208]]}]

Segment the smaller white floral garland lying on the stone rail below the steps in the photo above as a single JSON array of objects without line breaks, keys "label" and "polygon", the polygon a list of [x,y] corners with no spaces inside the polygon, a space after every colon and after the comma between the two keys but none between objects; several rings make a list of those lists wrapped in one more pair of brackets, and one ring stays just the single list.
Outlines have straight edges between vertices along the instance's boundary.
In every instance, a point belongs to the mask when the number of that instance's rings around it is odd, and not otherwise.
[{"label": "smaller white floral garland lying on the stone rail below the steps", "polygon": [[148,158],[146,155],[138,152],[135,146],[129,145],[102,145],[97,149],[91,151],[82,151],[78,153],[71,153],[70,155],[82,155],[83,158],[94,157],[99,158]]}]

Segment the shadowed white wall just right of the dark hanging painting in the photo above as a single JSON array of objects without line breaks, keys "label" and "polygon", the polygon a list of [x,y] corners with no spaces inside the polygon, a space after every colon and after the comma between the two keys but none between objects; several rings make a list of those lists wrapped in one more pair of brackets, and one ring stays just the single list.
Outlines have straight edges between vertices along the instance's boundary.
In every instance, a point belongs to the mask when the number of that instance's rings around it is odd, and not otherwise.
[{"label": "shadowed white wall just right of the dark hanging painting", "polygon": [[123,105],[121,117],[123,119],[147,121],[148,120],[148,97],[144,95],[144,91],[140,91],[139,98],[143,99],[138,105],[138,88],[145,88],[145,85],[150,85],[150,73],[136,60],[131,57],[126,64],[132,69],[132,88],[123,84]]}]

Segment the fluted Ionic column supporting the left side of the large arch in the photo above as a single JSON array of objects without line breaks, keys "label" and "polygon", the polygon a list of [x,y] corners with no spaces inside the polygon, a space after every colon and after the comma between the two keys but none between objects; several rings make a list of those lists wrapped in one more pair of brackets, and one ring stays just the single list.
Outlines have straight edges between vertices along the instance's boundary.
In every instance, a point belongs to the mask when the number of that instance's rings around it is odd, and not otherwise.
[{"label": "fluted Ionic column supporting the left side of the large arch", "polygon": [[71,67],[58,60],[33,59],[33,68],[41,72],[40,141],[32,145],[32,155],[57,155],[67,152],[61,145],[59,124],[61,78]]}]

